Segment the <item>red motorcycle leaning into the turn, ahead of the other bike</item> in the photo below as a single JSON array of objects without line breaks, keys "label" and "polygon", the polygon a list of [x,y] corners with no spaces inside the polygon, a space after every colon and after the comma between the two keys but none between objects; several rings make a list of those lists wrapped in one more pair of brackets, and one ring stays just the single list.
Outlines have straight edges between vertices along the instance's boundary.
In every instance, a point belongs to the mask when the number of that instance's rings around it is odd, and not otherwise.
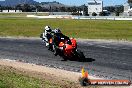
[{"label": "red motorcycle leaning into the turn, ahead of the other bike", "polygon": [[77,49],[77,42],[74,38],[62,39],[59,48],[54,50],[54,54],[63,57],[64,60],[85,61],[85,56],[83,52]]}]

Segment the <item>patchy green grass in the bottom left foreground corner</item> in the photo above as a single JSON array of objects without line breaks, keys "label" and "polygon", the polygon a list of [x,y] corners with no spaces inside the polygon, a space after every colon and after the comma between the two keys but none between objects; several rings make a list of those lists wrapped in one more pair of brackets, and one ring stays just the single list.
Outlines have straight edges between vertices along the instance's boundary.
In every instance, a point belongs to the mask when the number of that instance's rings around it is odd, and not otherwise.
[{"label": "patchy green grass in the bottom left foreground corner", "polygon": [[50,81],[23,75],[10,67],[0,66],[0,88],[61,88]]}]

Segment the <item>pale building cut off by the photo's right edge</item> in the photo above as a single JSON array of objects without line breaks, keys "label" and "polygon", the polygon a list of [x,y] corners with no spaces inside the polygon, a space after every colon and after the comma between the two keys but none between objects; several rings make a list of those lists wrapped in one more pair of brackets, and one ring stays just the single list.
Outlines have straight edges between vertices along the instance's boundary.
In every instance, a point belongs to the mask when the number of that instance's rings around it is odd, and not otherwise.
[{"label": "pale building cut off by the photo's right edge", "polygon": [[124,15],[125,16],[132,16],[132,3],[124,4]]}]

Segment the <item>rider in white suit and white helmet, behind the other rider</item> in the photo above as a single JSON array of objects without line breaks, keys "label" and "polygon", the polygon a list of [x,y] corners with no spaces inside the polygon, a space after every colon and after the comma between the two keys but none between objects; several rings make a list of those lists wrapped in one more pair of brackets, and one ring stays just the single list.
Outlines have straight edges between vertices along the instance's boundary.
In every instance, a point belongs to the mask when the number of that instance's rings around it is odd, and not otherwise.
[{"label": "rider in white suit and white helmet, behind the other rider", "polygon": [[49,45],[48,40],[50,39],[51,32],[52,32],[52,30],[51,30],[50,26],[45,26],[44,32],[43,32],[43,41],[46,41],[46,46]]}]

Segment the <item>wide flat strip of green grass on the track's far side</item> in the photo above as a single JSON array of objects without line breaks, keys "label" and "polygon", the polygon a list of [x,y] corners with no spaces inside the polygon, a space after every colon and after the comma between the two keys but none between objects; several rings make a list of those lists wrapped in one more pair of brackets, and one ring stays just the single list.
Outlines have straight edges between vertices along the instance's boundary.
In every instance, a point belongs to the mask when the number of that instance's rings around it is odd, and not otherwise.
[{"label": "wide flat strip of green grass on the track's far side", "polygon": [[45,25],[85,39],[132,40],[132,21],[0,18],[0,36],[39,37]]}]

